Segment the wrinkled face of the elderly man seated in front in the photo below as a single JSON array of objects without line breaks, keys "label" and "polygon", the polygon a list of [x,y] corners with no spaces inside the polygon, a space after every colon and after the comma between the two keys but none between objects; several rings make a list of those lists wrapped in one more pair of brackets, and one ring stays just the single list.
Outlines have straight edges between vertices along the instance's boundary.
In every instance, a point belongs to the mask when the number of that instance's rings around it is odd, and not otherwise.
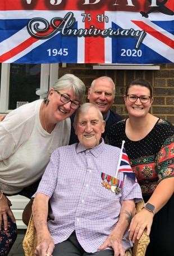
[{"label": "wrinkled face of the elderly man seated in front", "polygon": [[79,115],[75,125],[75,133],[79,142],[86,149],[92,149],[99,145],[104,126],[105,122],[99,117],[98,111],[94,107],[90,107],[85,114]]}]

